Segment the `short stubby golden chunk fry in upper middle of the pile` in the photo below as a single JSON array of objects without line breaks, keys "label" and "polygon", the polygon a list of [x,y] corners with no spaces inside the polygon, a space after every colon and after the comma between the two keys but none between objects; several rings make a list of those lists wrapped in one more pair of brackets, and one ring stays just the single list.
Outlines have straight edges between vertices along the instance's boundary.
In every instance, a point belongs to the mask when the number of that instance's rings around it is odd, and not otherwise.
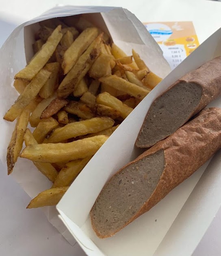
[{"label": "short stubby golden chunk fry in upper middle of the pile", "polygon": [[105,75],[111,75],[111,60],[113,60],[112,55],[101,53],[91,66],[89,76],[97,79]]}]

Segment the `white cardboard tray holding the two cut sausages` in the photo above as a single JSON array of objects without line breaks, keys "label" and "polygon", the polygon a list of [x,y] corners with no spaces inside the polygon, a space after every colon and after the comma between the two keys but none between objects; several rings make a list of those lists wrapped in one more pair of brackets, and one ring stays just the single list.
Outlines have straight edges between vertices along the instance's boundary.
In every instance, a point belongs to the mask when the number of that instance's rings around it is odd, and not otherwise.
[{"label": "white cardboard tray holding the two cut sausages", "polygon": [[[217,181],[221,179],[221,173],[218,172],[221,169],[221,162],[217,157],[215,162],[211,162],[199,185],[197,182],[210,161],[171,191],[149,212],[111,238],[100,239],[95,235],[89,212],[112,174],[140,154],[139,150],[134,148],[134,143],[154,99],[177,79],[219,55],[221,55],[221,29],[191,53],[143,99],[95,154],[58,203],[57,209],[61,219],[87,255],[190,256],[192,254],[212,221],[212,216],[215,216],[221,205],[220,196],[214,199],[216,196],[214,192],[220,194],[220,184]],[[210,106],[221,107],[220,97]],[[210,174],[215,175],[217,181],[210,177]],[[196,184],[197,187],[191,194]],[[189,196],[190,200],[186,201]],[[177,216],[178,219],[174,222]],[[171,227],[173,222],[174,225]],[[165,237],[167,232],[168,235]]]}]

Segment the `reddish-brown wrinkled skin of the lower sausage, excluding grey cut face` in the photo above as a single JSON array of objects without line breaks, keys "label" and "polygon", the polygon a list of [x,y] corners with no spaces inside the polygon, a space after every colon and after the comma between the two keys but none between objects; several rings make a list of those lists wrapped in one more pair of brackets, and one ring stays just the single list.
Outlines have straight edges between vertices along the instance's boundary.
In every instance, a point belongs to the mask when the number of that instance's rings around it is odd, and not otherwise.
[{"label": "reddish-brown wrinkled skin of the lower sausage, excluding grey cut face", "polygon": [[[143,204],[140,210],[119,230],[134,221],[143,213],[149,211],[156,203],[161,201],[173,188],[191,176],[200,166],[202,166],[212,155],[221,148],[221,108],[207,108],[202,110],[195,119],[179,128],[167,139],[159,141],[152,148],[145,151],[137,159],[121,168],[116,174],[127,168],[131,163],[137,163],[143,157],[154,154],[159,150],[164,151],[165,167],[160,176],[154,192]],[[113,177],[108,181],[110,183]],[[105,190],[106,185],[103,190]],[[100,196],[100,195],[99,195]],[[99,199],[98,196],[98,199]],[[96,202],[98,201],[96,200]],[[95,214],[95,204],[90,215],[93,230],[100,238],[113,236],[114,233],[100,234],[93,217]],[[105,216],[104,216],[105,217]]]}]

